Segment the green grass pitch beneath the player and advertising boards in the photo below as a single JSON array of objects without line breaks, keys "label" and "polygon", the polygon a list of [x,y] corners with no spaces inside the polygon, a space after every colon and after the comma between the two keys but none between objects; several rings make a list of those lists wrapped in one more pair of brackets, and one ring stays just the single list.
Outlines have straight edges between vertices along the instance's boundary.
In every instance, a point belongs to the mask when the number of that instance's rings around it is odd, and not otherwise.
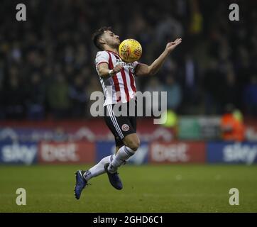
[{"label": "green grass pitch beneath the player and advertising boards", "polygon": [[[125,165],[124,189],[101,175],[75,199],[74,172],[89,165],[0,166],[0,212],[257,212],[257,166]],[[26,189],[26,206],[16,189]],[[229,189],[239,205],[229,205]]]}]

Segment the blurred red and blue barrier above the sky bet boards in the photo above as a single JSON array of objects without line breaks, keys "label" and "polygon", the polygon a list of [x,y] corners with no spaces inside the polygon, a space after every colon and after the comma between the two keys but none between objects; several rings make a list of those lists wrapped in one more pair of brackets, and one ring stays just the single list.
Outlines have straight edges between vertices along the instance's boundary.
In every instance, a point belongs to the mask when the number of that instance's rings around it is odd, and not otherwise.
[{"label": "blurred red and blue barrier above the sky bet boards", "polygon": [[[153,118],[138,118],[137,133],[142,141],[170,141],[175,137],[173,128],[153,124]],[[114,135],[103,118],[73,121],[0,121],[1,140],[21,142],[40,141],[114,141]]]}]

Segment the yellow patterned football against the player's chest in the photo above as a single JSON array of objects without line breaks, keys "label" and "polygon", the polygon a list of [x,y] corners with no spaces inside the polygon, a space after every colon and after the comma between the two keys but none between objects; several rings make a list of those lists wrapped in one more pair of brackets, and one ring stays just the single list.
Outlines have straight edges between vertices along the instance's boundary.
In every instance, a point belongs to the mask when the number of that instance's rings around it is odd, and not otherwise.
[{"label": "yellow patterned football against the player's chest", "polygon": [[124,62],[134,62],[142,55],[141,44],[132,38],[126,39],[119,45],[119,56]]}]

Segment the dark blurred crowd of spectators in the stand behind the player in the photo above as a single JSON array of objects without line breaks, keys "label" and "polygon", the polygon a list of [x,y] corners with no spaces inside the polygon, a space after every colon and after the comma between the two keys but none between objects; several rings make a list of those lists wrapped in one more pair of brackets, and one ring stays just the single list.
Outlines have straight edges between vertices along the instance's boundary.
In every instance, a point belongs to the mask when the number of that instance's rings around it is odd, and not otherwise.
[{"label": "dark blurred crowd of spectators in the stand behind the player", "polygon": [[[33,0],[23,1],[26,21],[15,2],[0,8],[2,120],[90,118],[89,96],[102,91],[91,34],[101,26],[138,40],[147,64],[182,38],[157,77],[137,78],[138,90],[167,91],[177,114],[223,114],[228,103],[257,114],[256,1]],[[229,21],[231,3],[239,21]]]}]

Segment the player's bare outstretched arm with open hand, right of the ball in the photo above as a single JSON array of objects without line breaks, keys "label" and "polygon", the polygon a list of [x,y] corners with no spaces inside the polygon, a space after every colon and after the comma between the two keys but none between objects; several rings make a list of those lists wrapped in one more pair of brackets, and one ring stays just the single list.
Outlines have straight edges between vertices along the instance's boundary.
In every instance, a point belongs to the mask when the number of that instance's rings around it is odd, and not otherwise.
[{"label": "player's bare outstretched arm with open hand, right of the ball", "polygon": [[177,38],[174,42],[168,43],[163,53],[151,65],[139,64],[138,67],[136,67],[136,76],[142,77],[156,74],[160,70],[160,67],[162,67],[166,57],[168,57],[170,52],[172,52],[181,42],[182,39]]}]

